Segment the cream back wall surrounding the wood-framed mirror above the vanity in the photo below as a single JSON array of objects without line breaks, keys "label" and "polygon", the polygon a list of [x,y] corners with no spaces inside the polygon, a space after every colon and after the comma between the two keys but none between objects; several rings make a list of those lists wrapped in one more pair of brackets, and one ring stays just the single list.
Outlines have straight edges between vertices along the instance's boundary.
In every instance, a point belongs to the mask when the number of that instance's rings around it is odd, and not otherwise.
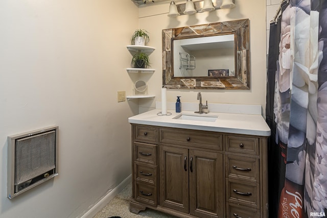
[{"label": "cream back wall surrounding the wood-framed mirror above the vanity", "polygon": [[[184,1],[176,1],[176,4]],[[140,102],[140,111],[154,108],[154,102],[160,101],[162,86],[161,61],[161,30],[198,25],[202,23],[219,22],[249,18],[250,20],[250,50],[251,50],[251,88],[250,90],[176,90],[167,91],[167,100],[176,101],[181,96],[181,102],[197,102],[197,92],[201,91],[202,99],[208,103],[251,104],[266,106],[266,2],[258,0],[236,0],[236,7],[231,10],[216,10],[213,12],[181,15],[176,18],[167,16],[169,2],[148,5],[139,8],[139,25],[150,33],[149,45],[156,47],[150,56],[151,68],[156,72],[148,80],[149,92],[156,94],[153,101]]]}]

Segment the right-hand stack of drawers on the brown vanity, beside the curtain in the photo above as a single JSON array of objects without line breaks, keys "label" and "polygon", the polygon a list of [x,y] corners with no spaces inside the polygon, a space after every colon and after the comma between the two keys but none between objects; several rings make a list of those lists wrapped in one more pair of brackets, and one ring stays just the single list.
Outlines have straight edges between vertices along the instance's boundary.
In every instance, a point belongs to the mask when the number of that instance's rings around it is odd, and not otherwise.
[{"label": "right-hand stack of drawers on the brown vanity, beside the curtain", "polygon": [[225,135],[226,217],[268,217],[267,138]]}]

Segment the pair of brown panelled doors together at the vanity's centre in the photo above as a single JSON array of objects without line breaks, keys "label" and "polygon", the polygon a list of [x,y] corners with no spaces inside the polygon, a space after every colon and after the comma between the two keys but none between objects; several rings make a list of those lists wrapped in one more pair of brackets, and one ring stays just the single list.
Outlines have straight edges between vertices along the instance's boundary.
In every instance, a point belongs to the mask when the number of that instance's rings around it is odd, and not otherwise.
[{"label": "pair of brown panelled doors together at the vanity's centre", "polygon": [[159,146],[159,204],[199,217],[223,217],[223,155]]}]

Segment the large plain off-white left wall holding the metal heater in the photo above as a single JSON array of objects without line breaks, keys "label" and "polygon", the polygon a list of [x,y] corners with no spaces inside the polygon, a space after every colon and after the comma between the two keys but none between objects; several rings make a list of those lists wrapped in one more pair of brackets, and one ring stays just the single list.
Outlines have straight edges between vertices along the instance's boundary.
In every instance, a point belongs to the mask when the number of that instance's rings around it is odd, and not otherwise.
[{"label": "large plain off-white left wall holding the metal heater", "polygon": [[[117,10],[121,9],[121,10]],[[78,217],[131,173],[130,0],[0,1],[0,217]],[[7,199],[7,136],[59,126],[59,176]]]}]

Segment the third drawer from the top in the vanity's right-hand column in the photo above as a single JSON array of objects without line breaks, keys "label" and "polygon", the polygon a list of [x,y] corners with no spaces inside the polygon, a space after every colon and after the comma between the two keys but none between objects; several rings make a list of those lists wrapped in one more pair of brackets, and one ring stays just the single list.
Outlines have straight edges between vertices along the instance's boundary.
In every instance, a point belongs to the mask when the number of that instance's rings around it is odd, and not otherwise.
[{"label": "third drawer from the top in the vanity's right-hand column", "polygon": [[226,198],[228,202],[259,209],[259,184],[226,179],[226,186]]}]

